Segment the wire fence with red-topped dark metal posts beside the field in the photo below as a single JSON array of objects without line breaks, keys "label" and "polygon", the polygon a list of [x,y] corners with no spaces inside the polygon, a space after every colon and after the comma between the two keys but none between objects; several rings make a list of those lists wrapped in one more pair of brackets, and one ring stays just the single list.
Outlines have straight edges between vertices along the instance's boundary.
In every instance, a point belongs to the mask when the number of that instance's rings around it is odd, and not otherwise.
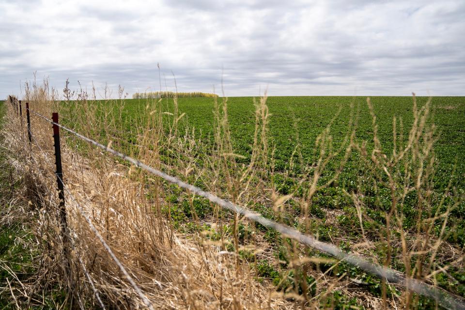
[{"label": "wire fence with red-topped dark metal posts beside the field", "polygon": [[[18,111],[18,100],[15,97],[10,96],[10,103],[14,106],[16,104],[16,111]],[[63,251],[65,251],[64,257],[68,257],[67,255],[69,252],[69,247],[72,244],[72,242],[69,240],[69,233],[67,232],[67,227],[66,227],[66,208],[65,208],[65,196],[64,192],[67,193],[68,197],[76,203],[78,206],[78,211],[79,213],[86,219],[90,229],[93,231],[93,233],[96,235],[96,237],[99,239],[99,241],[102,243],[104,248],[108,251],[110,257],[113,259],[113,261],[118,265],[118,267],[121,269],[122,273],[124,274],[125,278],[129,281],[129,283],[134,287],[136,292],[140,295],[141,299],[145,303],[145,305],[149,309],[153,309],[152,304],[150,300],[142,293],[140,288],[137,286],[135,281],[132,279],[132,277],[129,275],[129,273],[126,271],[124,268],[124,265],[117,259],[117,257],[114,255],[112,252],[111,248],[105,241],[105,239],[101,236],[101,234],[98,232],[98,230],[95,228],[93,225],[92,220],[90,217],[84,212],[83,208],[78,204],[77,200],[74,198],[72,193],[69,191],[67,186],[65,185],[65,182],[63,181],[63,174],[62,174],[62,165],[61,165],[61,149],[60,149],[60,129],[78,137],[81,140],[84,140],[86,142],[89,142],[90,144],[108,152],[109,154],[113,156],[120,157],[124,159],[125,161],[135,165],[136,167],[139,167],[140,169],[143,169],[145,171],[148,171],[158,177],[161,177],[165,179],[166,181],[176,184],[198,196],[201,196],[203,198],[208,199],[210,202],[216,203],[217,205],[221,206],[224,209],[233,211],[234,213],[241,215],[245,218],[248,218],[249,220],[255,221],[257,223],[262,224],[266,228],[269,229],[274,229],[279,233],[282,233],[283,235],[292,238],[299,243],[308,246],[310,248],[317,249],[321,252],[324,252],[326,254],[329,254],[335,258],[340,259],[341,261],[345,261],[347,263],[350,263],[366,272],[372,273],[373,275],[376,275],[380,279],[385,279],[389,282],[392,283],[397,283],[400,285],[405,286],[407,289],[411,290],[412,292],[415,292],[417,294],[421,294],[430,298],[433,298],[434,300],[437,301],[437,303],[446,308],[446,309],[460,309],[460,310],[465,310],[465,302],[462,300],[462,298],[452,295],[449,292],[432,286],[430,284],[427,284],[425,282],[422,282],[418,279],[413,279],[409,278],[408,276],[405,276],[403,273],[398,272],[396,270],[393,270],[391,268],[387,268],[384,266],[381,266],[376,263],[371,263],[367,259],[351,254],[345,251],[342,251],[340,248],[336,247],[333,244],[321,242],[317,240],[315,237],[301,233],[298,230],[291,228],[289,226],[279,224],[275,221],[269,220],[262,215],[255,213],[247,208],[241,207],[237,204],[234,204],[232,202],[229,202],[227,200],[221,199],[217,197],[216,195],[206,192],[202,190],[201,188],[197,186],[190,185],[179,178],[173,177],[163,171],[156,170],[150,166],[147,166],[146,164],[142,163],[140,160],[134,159],[128,155],[125,155],[123,153],[120,153],[118,151],[115,151],[91,138],[85,137],[78,132],[67,128],[63,126],[62,124],[59,124],[58,122],[58,113],[53,113],[52,114],[52,119],[48,119],[46,116],[37,113],[29,108],[29,103],[26,103],[26,111],[27,111],[27,123],[28,123],[28,138],[29,142],[32,143],[31,137],[31,120],[30,120],[30,112],[33,113],[34,115],[44,119],[47,121],[49,124],[52,125],[53,128],[53,138],[54,138],[54,148],[55,148],[55,159],[56,159],[56,177],[57,177],[57,189],[58,189],[58,195],[60,199],[60,221],[61,221],[61,232],[62,232],[62,238],[63,238]],[[20,122],[22,122],[22,112],[21,112],[21,101],[19,100],[19,118]],[[81,262],[82,263],[82,262]],[[84,270],[85,266],[82,264]],[[90,279],[89,275],[86,273],[86,276],[88,279]],[[92,284],[92,280],[90,281]],[[93,286],[93,284],[92,284]],[[104,305],[100,298],[98,297],[98,292],[95,290],[95,287],[93,287],[93,290],[97,296],[97,299],[104,309]]]}]

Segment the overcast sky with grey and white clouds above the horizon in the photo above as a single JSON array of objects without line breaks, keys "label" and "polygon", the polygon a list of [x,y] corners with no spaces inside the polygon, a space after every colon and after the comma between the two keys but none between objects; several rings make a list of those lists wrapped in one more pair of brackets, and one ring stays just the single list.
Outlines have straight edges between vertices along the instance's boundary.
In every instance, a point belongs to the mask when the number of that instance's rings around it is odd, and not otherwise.
[{"label": "overcast sky with grey and white clouds above the horizon", "polygon": [[181,92],[465,95],[464,0],[0,0],[0,25],[1,97],[156,91],[157,63]]}]

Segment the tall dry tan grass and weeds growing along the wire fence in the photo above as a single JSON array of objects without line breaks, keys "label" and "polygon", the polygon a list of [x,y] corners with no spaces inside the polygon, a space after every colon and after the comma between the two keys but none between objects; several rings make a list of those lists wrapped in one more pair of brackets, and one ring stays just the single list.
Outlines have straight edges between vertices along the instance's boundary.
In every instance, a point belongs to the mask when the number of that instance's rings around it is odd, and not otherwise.
[{"label": "tall dry tan grass and weeds growing along the wire fence", "polygon": [[[120,141],[118,132],[124,117],[124,100],[119,103],[121,108],[116,116],[110,102],[99,105],[97,115],[94,93],[81,90],[76,95],[73,104],[81,112],[67,121],[87,137],[93,138],[99,132],[112,147],[117,150],[122,147],[124,141]],[[427,122],[429,103],[417,107],[413,97],[414,124],[406,137],[402,130],[398,135],[394,129],[392,154],[385,154],[381,148],[370,100],[372,150],[367,150],[366,143],[355,137],[355,107],[344,139],[334,143],[330,128],[338,121],[336,115],[316,140],[315,162],[305,163],[298,155],[299,150],[295,150],[293,158],[300,161],[303,171],[298,182],[306,186],[299,195],[293,190],[283,196],[273,185],[274,150],[268,143],[270,115],[266,95],[255,102],[255,131],[247,164],[240,162],[240,156],[234,152],[226,98],[212,99],[216,117],[213,147],[202,144],[193,131],[178,131],[184,115],[178,112],[176,100],[174,94],[173,112],[164,108],[162,100],[147,97],[141,101],[146,112],[141,116],[144,119],[135,124],[138,134],[134,147],[125,149],[132,153],[129,155],[137,155],[147,165],[175,174],[219,197],[255,210],[259,208],[257,211],[279,222],[289,224],[289,218],[295,217],[296,228],[314,233],[315,223],[318,225],[314,196],[337,183],[350,156],[356,153],[360,165],[368,171],[360,176],[360,182],[369,178],[366,182],[387,188],[390,207],[385,221],[377,224],[361,194],[346,192],[356,210],[348,220],[355,223],[352,229],[359,234],[355,238],[328,241],[433,285],[443,286],[440,279],[444,275],[446,279],[451,277],[450,270],[463,274],[463,248],[446,242],[444,234],[449,214],[463,203],[464,194],[450,184],[443,199],[437,200],[434,194],[435,133],[434,126]],[[59,95],[48,89],[47,80],[43,84],[26,84],[23,101],[30,102],[31,109],[46,116],[61,104]],[[69,97],[64,104],[70,104]],[[25,119],[21,123],[16,109],[6,106],[2,145],[8,150],[6,160],[21,179],[15,198],[11,198],[17,200],[2,210],[2,220],[14,214],[28,223],[33,236],[27,248],[32,253],[30,264],[36,266],[29,277],[19,278],[13,270],[9,272],[11,277],[7,279],[14,280],[2,295],[8,294],[12,304],[20,308],[47,305],[48,297],[43,292],[58,292],[59,297],[55,293],[52,294],[55,297],[50,297],[57,307],[60,304],[84,309],[101,308],[98,298],[108,309],[144,308],[147,301],[143,296],[154,309],[437,306],[401,286],[380,281],[356,267],[183,193],[176,186],[129,167],[72,136],[62,138],[64,181],[72,193],[66,193],[71,250],[65,256],[59,229],[51,125],[31,115],[34,138],[29,145]],[[402,127],[398,120],[393,124],[394,128]],[[335,158],[340,159],[338,165],[329,165]],[[331,178],[322,182],[321,176],[328,169]],[[410,230],[404,228],[403,212],[412,193],[418,212],[415,229]],[[446,200],[448,195],[451,199]],[[187,216],[181,217],[182,214]],[[342,214],[341,210],[328,211],[325,227],[337,226],[340,222],[337,218]],[[142,296],[83,215],[95,225]],[[184,222],[187,219],[189,222]]]}]

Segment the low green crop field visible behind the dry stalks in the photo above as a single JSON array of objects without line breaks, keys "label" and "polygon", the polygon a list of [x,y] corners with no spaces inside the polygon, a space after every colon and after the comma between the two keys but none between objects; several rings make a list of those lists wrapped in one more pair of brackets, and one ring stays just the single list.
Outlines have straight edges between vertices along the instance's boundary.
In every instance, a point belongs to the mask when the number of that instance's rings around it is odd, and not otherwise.
[{"label": "low green crop field visible behind the dry stalks", "polygon": [[[434,213],[445,212],[448,206],[454,204],[458,197],[464,195],[465,189],[465,97],[417,97],[418,108],[421,109],[431,99],[430,113],[426,125],[434,129],[434,171],[431,173],[431,184],[425,194],[428,197],[431,208],[418,211],[418,197],[416,190],[409,190],[400,207],[402,213],[402,226],[408,237],[415,239],[415,231],[419,230],[418,221],[434,216]],[[222,98],[218,98],[221,102]],[[254,100],[260,98],[233,97],[227,100],[227,113],[233,153],[240,155],[235,159],[239,164],[246,166],[251,160],[253,137],[255,129]],[[162,109],[162,118],[166,124],[165,130],[169,130],[169,124],[173,121],[172,113],[175,113],[173,99],[161,99],[158,103],[145,99],[126,99],[110,101],[93,101],[92,109],[100,125],[96,129],[86,133],[96,140],[108,143],[112,140],[112,146],[122,152],[140,158],[136,145],[144,130],[147,130],[146,119],[151,109]],[[396,140],[406,140],[409,130],[414,123],[413,98],[412,97],[371,97],[374,114],[376,115],[377,138],[380,141],[383,153],[392,154],[394,148],[393,119],[396,120]],[[151,108],[149,108],[149,106]],[[333,150],[337,150],[344,142],[344,138],[350,133],[350,125],[356,128],[354,142],[361,145],[366,141],[368,157],[373,150],[373,125],[372,116],[367,105],[366,97],[349,96],[306,96],[306,97],[268,97],[267,106],[270,116],[268,118],[266,133],[269,144],[269,162],[267,170],[270,174],[269,186],[279,195],[292,194],[295,198],[287,202],[287,216],[277,217],[270,206],[261,203],[249,205],[249,207],[262,213],[264,216],[281,220],[298,229],[309,231],[318,236],[320,240],[334,242],[340,240],[339,245],[355,244],[360,242],[362,234],[374,242],[383,239],[383,231],[386,226],[387,214],[391,209],[391,192],[384,183],[386,175],[379,176],[373,168],[367,168],[361,160],[358,151],[353,150],[344,165],[341,174],[330,186],[318,190],[311,199],[310,228],[301,226],[303,201],[305,193],[309,190],[308,182],[300,182],[305,169],[312,167],[318,160],[319,152],[315,150],[315,142],[319,135],[329,126],[329,135],[332,139]],[[178,112],[181,115],[177,125],[177,136],[194,137],[201,150],[198,152],[199,160],[211,155],[215,151],[215,113],[213,98],[178,98]],[[62,120],[78,131],[86,130],[82,122],[76,120],[76,115],[83,111],[78,109],[73,101],[62,102]],[[88,112],[88,111],[87,111]],[[116,124],[107,124],[106,119],[116,120]],[[110,128],[110,129],[109,129]],[[112,128],[112,129],[111,129]],[[110,131],[110,134],[109,134]],[[139,137],[139,138],[138,138]],[[150,143],[149,143],[150,144]],[[345,145],[345,144],[344,144]],[[207,154],[209,153],[210,154]],[[166,150],[159,150],[162,162],[175,164],[175,157]],[[190,154],[192,155],[192,154]],[[318,184],[325,184],[338,169],[344,151],[332,158],[321,174]],[[140,158],[143,160],[143,158]],[[427,160],[427,158],[425,158]],[[198,165],[202,163],[196,161]],[[307,168],[306,168],[307,167]],[[418,168],[418,167],[417,167]],[[403,167],[395,166],[393,171],[402,174]],[[381,172],[384,174],[384,172]],[[188,179],[197,186],[203,186],[211,180]],[[204,183],[203,183],[204,182]],[[428,181],[430,182],[430,181]],[[407,186],[408,187],[408,186]],[[168,199],[171,202],[171,219],[184,227],[187,218],[193,219],[189,211],[189,204],[185,194],[175,186],[168,186],[171,193]],[[356,206],[350,194],[355,193],[363,206],[363,224],[357,217]],[[441,200],[444,198],[444,201]],[[201,219],[211,217],[213,210],[208,202],[202,199],[194,200],[196,216]],[[272,209],[271,209],[272,210]],[[462,201],[450,209],[449,219],[442,238],[454,246],[465,245],[465,203]],[[359,227],[362,225],[362,229]],[[425,224],[426,225],[426,224]],[[437,218],[434,222],[433,232],[436,236],[441,233],[442,221]],[[422,229],[426,229],[423,226]],[[203,227],[205,228],[205,227]],[[210,229],[210,228],[207,228]],[[428,231],[429,232],[429,231]],[[394,233],[394,236],[396,234]],[[365,236],[364,236],[365,237]],[[265,233],[265,239],[269,240],[279,253],[279,260],[287,261],[282,251],[282,240],[276,241],[276,235],[272,232]],[[350,249],[347,248],[347,249]],[[392,255],[395,257],[397,249]],[[376,255],[383,257],[386,249],[382,244],[375,251]],[[373,253],[371,253],[373,254]],[[369,254],[370,255],[370,254]],[[389,254],[390,255],[390,254]],[[281,257],[282,256],[282,257]],[[428,257],[424,257],[426,261]],[[444,262],[446,263],[446,262]],[[391,265],[398,270],[405,270],[400,256],[393,258]],[[440,263],[443,265],[443,263]],[[263,267],[268,268],[267,266]],[[270,267],[271,268],[271,267]],[[342,266],[341,266],[342,268]],[[349,266],[344,266],[345,272],[355,277],[359,271]],[[263,270],[264,270],[263,269]],[[454,280],[438,278],[438,284],[457,294],[465,295],[465,278],[463,271],[454,268],[449,269]],[[335,274],[337,275],[337,274]],[[265,277],[265,276],[263,276]],[[267,276],[269,277],[269,275]],[[371,283],[370,291],[379,291],[379,280],[366,275],[366,282]],[[377,293],[378,295],[380,292]]]}]

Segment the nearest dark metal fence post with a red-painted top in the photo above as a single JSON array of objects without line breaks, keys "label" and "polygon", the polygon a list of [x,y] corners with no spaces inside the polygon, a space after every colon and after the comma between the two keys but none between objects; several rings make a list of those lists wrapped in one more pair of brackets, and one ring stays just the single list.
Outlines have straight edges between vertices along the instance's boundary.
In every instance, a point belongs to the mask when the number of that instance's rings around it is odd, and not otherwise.
[{"label": "nearest dark metal fence post with a red-painted top", "polygon": [[62,152],[60,149],[60,127],[58,127],[58,113],[52,113],[53,121],[53,141],[55,142],[55,165],[56,165],[56,175],[57,175],[57,186],[58,186],[58,198],[60,200],[60,226],[61,234],[63,240],[63,259],[65,262],[65,274],[70,281],[71,277],[71,264],[70,264],[70,252],[69,252],[69,235],[68,235],[68,225],[66,221],[66,207],[64,204],[64,180],[63,180],[63,171],[62,171]]}]

